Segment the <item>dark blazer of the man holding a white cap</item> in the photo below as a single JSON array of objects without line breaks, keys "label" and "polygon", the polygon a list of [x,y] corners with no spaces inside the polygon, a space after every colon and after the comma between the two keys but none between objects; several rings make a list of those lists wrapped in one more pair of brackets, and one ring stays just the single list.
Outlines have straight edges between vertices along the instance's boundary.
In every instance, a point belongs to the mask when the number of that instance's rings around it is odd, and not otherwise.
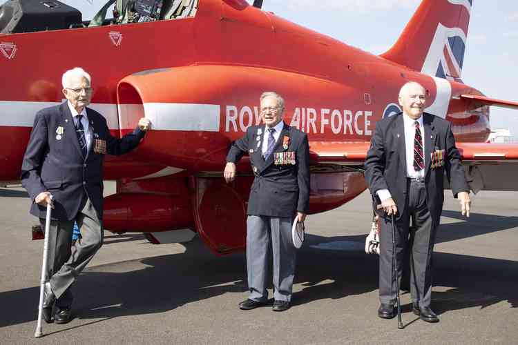
[{"label": "dark blazer of the man holding a white cap", "polygon": [[[307,213],[309,208],[309,144],[307,135],[284,124],[274,152],[262,157],[262,140],[265,125],[251,126],[241,139],[234,141],[227,161],[236,163],[248,152],[253,170],[253,179],[247,215],[293,217],[296,211]],[[258,135],[260,132],[260,135]],[[285,139],[285,137],[287,139]],[[283,148],[289,141],[287,148]],[[285,152],[285,157],[294,155],[294,161],[275,161]],[[277,164],[276,164],[277,163]],[[293,163],[293,164],[292,164]]]}]

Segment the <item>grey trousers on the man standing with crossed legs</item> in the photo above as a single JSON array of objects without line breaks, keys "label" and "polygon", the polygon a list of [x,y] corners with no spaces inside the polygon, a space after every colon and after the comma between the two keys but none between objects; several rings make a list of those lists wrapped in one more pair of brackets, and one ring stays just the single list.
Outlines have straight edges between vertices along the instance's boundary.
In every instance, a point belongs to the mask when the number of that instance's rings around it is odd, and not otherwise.
[{"label": "grey trousers on the man standing with crossed legs", "polygon": [[[39,219],[45,228],[45,219]],[[79,273],[86,267],[97,250],[101,248],[104,239],[102,223],[97,217],[90,199],[86,199],[82,208],[75,217],[81,238],[72,246],[72,232],[74,220],[50,221],[48,275],[50,286],[56,295],[57,306],[70,306],[72,294],[70,285],[75,282]]]}]

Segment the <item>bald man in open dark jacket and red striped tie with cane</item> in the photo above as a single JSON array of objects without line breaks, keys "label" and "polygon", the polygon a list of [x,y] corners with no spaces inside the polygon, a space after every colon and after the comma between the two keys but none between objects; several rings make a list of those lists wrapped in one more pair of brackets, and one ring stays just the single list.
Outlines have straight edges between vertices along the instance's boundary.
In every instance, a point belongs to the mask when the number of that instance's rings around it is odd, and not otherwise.
[{"label": "bald man in open dark jacket and red striped tie with cane", "polygon": [[[469,217],[468,183],[455,147],[450,122],[423,112],[425,90],[416,82],[399,92],[403,112],[376,124],[365,160],[365,179],[385,214],[381,221],[378,316],[394,317],[396,281],[392,266],[390,216],[396,216],[396,266],[401,279],[403,252],[409,244],[413,312],[425,322],[438,322],[430,308],[432,251],[443,208],[446,173],[463,215]],[[375,206],[376,207],[376,206]],[[412,219],[412,228],[410,228]],[[410,233],[409,233],[409,228]]]}]

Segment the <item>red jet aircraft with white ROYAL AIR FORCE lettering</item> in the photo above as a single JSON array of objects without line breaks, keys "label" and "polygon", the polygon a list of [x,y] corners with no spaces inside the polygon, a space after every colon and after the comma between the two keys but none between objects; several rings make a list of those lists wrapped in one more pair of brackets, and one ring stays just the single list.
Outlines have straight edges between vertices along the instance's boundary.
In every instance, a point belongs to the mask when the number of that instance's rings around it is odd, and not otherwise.
[{"label": "red jet aircraft with white ROYAL AIR FORCE lettering", "polygon": [[400,111],[407,81],[425,86],[427,112],[452,122],[474,192],[518,190],[518,146],[485,143],[489,106],[518,103],[461,81],[472,0],[423,0],[380,56],[260,3],[164,0],[156,21],[0,35],[0,180],[19,180],[35,113],[63,101],[61,75],[81,66],[93,77],[91,107],[112,135],[133,130],[142,116],[153,124],[137,150],[106,160],[106,179],[117,180],[104,203],[113,233],[144,232],[160,242],[170,230],[191,229],[218,255],[244,248],[250,165],[244,159],[230,185],[222,170],[231,141],[260,122],[265,90],[285,97],[285,121],[309,136],[311,213],[365,190],[376,121]]}]

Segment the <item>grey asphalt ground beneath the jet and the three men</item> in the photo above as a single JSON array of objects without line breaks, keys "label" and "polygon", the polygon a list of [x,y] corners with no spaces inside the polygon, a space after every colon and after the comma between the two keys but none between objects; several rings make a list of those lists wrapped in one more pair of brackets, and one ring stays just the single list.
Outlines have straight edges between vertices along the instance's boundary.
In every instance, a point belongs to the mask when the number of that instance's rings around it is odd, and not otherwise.
[{"label": "grey asphalt ground beneath the jet and the three men", "polygon": [[[113,193],[113,184],[107,184]],[[0,344],[518,344],[518,193],[481,192],[469,221],[445,193],[432,308],[422,322],[403,293],[403,330],[379,319],[378,257],[363,253],[367,193],[307,219],[291,309],[240,311],[244,253],[215,257],[198,237],[153,245],[113,235],[75,285],[75,319],[33,338],[43,241],[29,201],[0,188]],[[271,293],[271,290],[270,290]]]}]

